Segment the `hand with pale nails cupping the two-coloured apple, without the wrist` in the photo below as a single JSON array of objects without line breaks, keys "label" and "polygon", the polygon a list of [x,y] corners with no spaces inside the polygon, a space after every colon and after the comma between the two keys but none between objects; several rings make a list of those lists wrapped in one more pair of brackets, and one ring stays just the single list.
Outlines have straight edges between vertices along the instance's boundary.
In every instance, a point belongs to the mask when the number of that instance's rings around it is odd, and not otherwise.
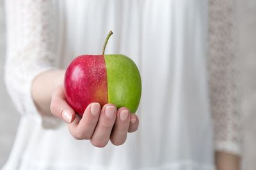
[{"label": "hand with pale nails cupping the two-coloured apple, without the wrist", "polygon": [[139,119],[128,108],[116,110],[114,104],[91,103],[79,117],[65,100],[63,85],[52,93],[51,112],[68,123],[70,134],[75,139],[90,139],[93,146],[104,147],[109,139],[113,145],[124,144],[127,132],[138,129]]}]

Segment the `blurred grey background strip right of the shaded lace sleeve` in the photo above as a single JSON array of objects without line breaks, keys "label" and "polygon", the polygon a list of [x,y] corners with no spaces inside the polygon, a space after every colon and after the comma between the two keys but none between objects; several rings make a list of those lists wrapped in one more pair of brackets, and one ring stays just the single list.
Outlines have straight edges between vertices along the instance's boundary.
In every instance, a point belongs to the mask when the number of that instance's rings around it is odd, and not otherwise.
[{"label": "blurred grey background strip right of the shaded lace sleeve", "polygon": [[236,0],[244,118],[243,170],[256,169],[256,1]]}]

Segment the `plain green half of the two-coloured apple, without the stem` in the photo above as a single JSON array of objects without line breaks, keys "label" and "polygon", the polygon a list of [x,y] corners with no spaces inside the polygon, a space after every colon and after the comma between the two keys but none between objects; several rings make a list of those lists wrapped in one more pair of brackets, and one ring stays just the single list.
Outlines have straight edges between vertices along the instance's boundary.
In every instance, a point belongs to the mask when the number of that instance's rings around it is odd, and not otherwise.
[{"label": "plain green half of the two-coloured apple, without the stem", "polygon": [[125,55],[104,55],[108,81],[108,103],[135,113],[141,97],[141,77],[136,64]]}]

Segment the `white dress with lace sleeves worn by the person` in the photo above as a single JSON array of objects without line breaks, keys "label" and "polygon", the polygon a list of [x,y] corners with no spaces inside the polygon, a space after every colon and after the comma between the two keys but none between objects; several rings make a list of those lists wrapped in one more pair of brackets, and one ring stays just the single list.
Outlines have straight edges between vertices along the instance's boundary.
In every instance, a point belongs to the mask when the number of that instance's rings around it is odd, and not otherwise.
[{"label": "white dress with lace sleeves worn by the person", "polygon": [[[6,0],[5,80],[22,117],[3,169],[212,170],[214,150],[239,154],[232,9],[227,0]],[[41,117],[30,87],[43,71],[100,54],[110,30],[106,53],[140,69],[140,127],[122,146],[96,148]]]}]

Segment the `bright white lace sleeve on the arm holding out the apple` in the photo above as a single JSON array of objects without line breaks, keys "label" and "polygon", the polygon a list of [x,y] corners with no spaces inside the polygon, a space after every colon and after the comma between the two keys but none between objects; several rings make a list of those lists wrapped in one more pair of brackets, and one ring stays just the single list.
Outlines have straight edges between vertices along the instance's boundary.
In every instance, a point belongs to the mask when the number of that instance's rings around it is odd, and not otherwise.
[{"label": "bright white lace sleeve on the arm holding out the apple", "polygon": [[5,6],[6,88],[20,114],[38,118],[31,97],[31,82],[36,75],[55,66],[52,1],[6,0]]}]

